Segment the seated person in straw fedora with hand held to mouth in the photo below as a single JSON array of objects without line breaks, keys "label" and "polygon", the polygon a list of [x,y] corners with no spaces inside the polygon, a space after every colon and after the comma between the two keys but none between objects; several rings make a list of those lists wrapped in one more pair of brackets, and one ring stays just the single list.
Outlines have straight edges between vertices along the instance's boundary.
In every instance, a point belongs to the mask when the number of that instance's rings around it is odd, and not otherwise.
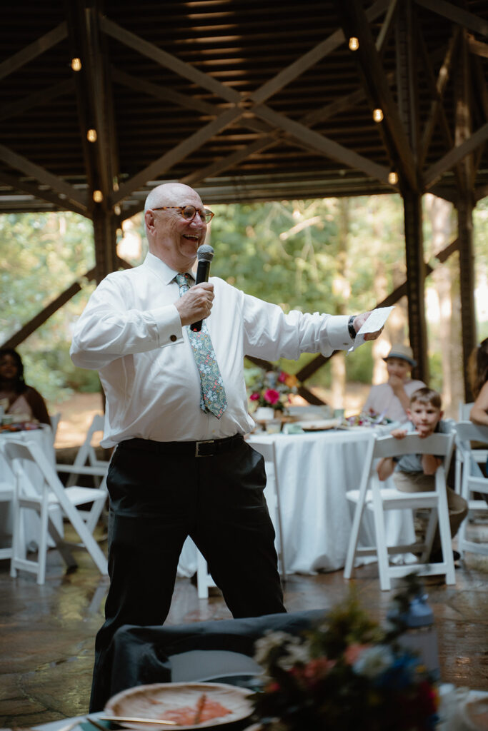
[{"label": "seated person in straw fedora with hand held to mouth", "polygon": [[367,414],[383,414],[391,421],[404,422],[408,419],[410,396],[418,388],[424,388],[423,381],[413,381],[410,371],[417,365],[408,345],[392,345],[386,360],[388,381],[372,386],[363,407]]}]

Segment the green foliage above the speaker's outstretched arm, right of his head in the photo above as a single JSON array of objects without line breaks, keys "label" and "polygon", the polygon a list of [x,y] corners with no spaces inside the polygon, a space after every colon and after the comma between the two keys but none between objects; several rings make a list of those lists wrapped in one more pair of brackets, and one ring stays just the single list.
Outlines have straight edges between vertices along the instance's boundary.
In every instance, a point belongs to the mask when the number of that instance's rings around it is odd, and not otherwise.
[{"label": "green foliage above the speaker's outstretched arm, right of his head", "polygon": [[[337,314],[345,294],[348,311],[375,306],[372,258],[386,262],[390,288],[395,267],[405,268],[402,203],[399,196],[350,200],[348,281],[337,281],[339,251],[338,201],[334,198],[216,205],[211,224],[215,249],[212,273],[251,295],[282,306],[285,311]],[[382,236],[375,236],[378,221]],[[315,356],[281,367],[296,373]],[[359,349],[346,362],[348,378],[371,382],[372,355]],[[312,376],[310,385],[330,385],[329,367]]]}]

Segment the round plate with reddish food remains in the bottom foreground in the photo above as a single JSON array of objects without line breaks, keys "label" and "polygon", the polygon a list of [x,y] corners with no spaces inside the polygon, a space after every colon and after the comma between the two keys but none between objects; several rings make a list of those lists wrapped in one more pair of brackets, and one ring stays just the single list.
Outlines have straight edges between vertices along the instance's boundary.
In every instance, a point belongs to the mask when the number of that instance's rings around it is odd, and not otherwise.
[{"label": "round plate with reddish food remains in the bottom foreground", "polygon": [[144,731],[220,729],[251,716],[250,695],[251,690],[225,683],[154,683],[114,695],[105,715]]}]

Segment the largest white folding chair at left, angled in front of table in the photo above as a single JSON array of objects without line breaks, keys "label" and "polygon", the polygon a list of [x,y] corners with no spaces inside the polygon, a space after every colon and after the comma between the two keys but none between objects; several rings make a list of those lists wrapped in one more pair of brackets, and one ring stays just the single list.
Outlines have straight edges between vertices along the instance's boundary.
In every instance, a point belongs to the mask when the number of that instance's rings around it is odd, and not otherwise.
[{"label": "largest white folding chair at left, angled in front of table", "polygon": [[[76,566],[70,548],[88,550],[102,575],[107,575],[107,559],[97,544],[89,527],[91,511],[78,510],[79,506],[92,504],[91,510],[100,515],[105,504],[106,491],[100,488],[64,488],[40,447],[34,442],[9,440],[4,445],[4,454],[12,466],[15,475],[15,493],[13,498],[13,540],[10,575],[15,577],[17,569],[23,569],[37,575],[37,583],[45,582],[45,564],[48,550],[48,535],[54,540],[68,567]],[[37,466],[40,475],[39,484],[34,485],[23,469],[23,463],[29,461]],[[51,519],[53,507],[59,506],[80,537],[80,543],[69,543],[61,537],[56,524]],[[40,518],[40,535],[38,540],[37,561],[27,559],[21,542],[22,511],[34,510]],[[83,516],[83,512],[85,515]]]}]

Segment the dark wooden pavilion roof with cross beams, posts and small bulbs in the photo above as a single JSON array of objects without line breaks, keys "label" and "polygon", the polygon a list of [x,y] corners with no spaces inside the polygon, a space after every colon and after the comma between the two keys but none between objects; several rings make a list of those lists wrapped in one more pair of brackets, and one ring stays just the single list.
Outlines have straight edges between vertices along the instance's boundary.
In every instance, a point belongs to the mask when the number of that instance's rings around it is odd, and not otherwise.
[{"label": "dark wooden pavilion roof with cross beams, posts and small bulbs", "polygon": [[[399,192],[407,279],[382,304],[408,295],[425,379],[426,192],[457,210],[438,258],[459,251],[465,365],[476,345],[487,84],[486,0],[19,0],[0,24],[0,213],[91,219],[86,276],[100,281],[127,265],[121,221],[164,181],[207,205]],[[79,289],[53,293],[8,344]]]}]

